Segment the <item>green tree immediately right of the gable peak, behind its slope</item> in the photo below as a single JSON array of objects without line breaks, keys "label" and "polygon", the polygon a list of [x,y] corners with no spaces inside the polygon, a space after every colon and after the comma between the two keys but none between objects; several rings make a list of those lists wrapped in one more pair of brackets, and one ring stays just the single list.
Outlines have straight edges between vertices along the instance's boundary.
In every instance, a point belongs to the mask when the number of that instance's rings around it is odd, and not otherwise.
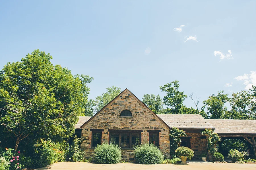
[{"label": "green tree immediately right of the gable peak, behind its slope", "polygon": [[147,105],[155,114],[161,114],[163,107],[163,100],[160,95],[144,94],[142,102]]}]

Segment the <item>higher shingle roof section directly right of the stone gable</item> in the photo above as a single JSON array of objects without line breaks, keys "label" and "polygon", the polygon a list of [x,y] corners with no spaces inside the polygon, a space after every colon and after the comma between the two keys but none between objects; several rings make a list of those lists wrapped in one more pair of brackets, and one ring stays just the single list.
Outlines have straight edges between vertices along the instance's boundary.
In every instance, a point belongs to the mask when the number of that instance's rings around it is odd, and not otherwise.
[{"label": "higher shingle roof section directly right of the stone gable", "polygon": [[214,128],[200,114],[158,114],[171,128]]}]

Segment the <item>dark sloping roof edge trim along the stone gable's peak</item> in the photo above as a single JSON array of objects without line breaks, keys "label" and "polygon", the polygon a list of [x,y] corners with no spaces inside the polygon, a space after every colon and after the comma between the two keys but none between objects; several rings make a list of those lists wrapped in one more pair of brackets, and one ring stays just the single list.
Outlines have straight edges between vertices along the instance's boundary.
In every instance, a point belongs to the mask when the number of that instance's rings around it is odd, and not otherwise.
[{"label": "dark sloping roof edge trim along the stone gable's peak", "polygon": [[112,101],[110,101],[106,106],[104,106],[102,109],[100,109],[100,111],[98,111],[96,114],[94,114],[90,119],[88,119],[84,124],[82,124],[80,126],[80,128],[82,128],[82,126],[86,125],[88,122],[90,122],[94,117],[96,117],[100,112],[102,112],[105,108],[107,108],[109,105],[111,105],[119,96],[121,96],[124,92],[128,92],[129,94],[131,94],[131,96],[133,96],[134,99],[136,99],[137,101],[139,101],[139,103],[141,105],[143,105],[151,114],[153,114],[158,120],[160,120],[160,122],[162,122],[167,128],[170,128],[168,126],[168,124],[166,124],[161,118],[159,118],[153,111],[151,111],[138,97],[136,97],[130,90],[128,90],[127,88],[125,90],[123,90],[123,92],[121,92],[119,95],[117,95]]}]

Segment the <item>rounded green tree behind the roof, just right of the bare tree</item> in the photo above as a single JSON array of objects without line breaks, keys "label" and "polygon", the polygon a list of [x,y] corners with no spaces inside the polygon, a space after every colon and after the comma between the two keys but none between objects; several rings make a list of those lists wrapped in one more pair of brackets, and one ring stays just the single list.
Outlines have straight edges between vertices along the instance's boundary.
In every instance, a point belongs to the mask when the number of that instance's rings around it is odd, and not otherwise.
[{"label": "rounded green tree behind the roof, just right of the bare tree", "polygon": [[227,101],[228,94],[224,94],[224,91],[218,91],[217,95],[210,95],[207,100],[203,101],[204,107],[207,107],[208,110],[207,117],[209,119],[222,119],[227,111],[225,106]]}]

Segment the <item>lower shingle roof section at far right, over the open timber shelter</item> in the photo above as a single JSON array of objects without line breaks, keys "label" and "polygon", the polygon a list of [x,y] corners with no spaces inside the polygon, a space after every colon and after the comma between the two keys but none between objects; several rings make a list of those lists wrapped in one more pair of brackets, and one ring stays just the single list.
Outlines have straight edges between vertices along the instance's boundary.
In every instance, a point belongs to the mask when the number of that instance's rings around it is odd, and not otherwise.
[{"label": "lower shingle roof section at far right, over the open timber shelter", "polygon": [[228,120],[228,119],[208,119],[212,126],[214,126],[214,132],[221,133],[256,133],[256,120]]}]

